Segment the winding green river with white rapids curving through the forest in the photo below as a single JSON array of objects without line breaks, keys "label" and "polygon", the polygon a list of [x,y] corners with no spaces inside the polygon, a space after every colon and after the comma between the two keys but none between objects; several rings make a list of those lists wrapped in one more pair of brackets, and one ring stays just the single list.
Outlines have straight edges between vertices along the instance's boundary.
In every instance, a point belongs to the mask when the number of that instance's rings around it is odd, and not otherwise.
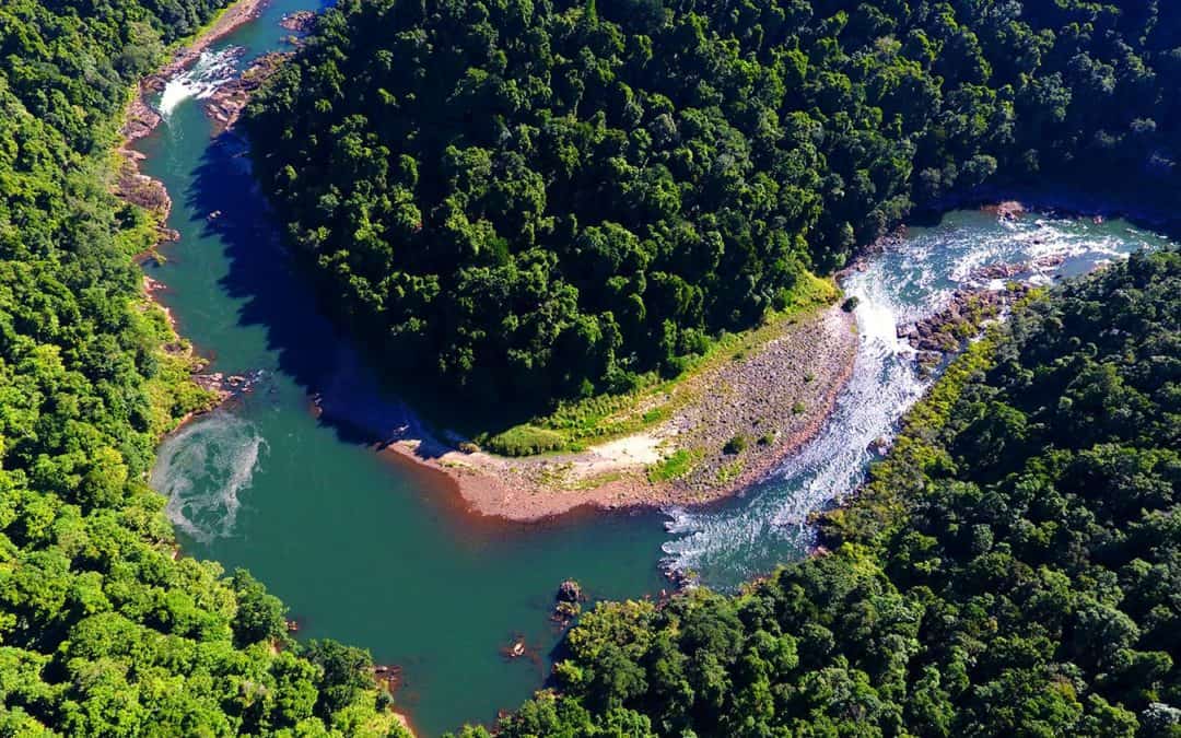
[{"label": "winding green river with white rapids curving through the forest", "polygon": [[[810,543],[805,515],[854,489],[864,451],[925,387],[894,325],[934,309],[972,266],[1069,252],[1066,273],[1156,239],[1123,222],[999,223],[954,213],[913,228],[846,285],[861,298],[854,379],[824,431],[772,478],[707,511],[583,515],[535,525],[462,514],[439,479],[379,453],[364,436],[317,417],[337,393],[367,412],[393,407],[376,374],[318,313],[256,194],[244,148],[211,138],[201,97],[260,53],[285,47],[285,13],[314,0],[273,0],[171,80],[164,123],[137,149],[143,171],[175,201],[182,234],[145,267],[162,301],[211,370],[255,372],[252,393],[198,418],[159,449],[152,484],[188,555],[249,568],[291,608],[300,638],[334,638],[404,667],[397,694],[425,736],[495,719],[548,672],[559,633],[554,592],[574,577],[596,599],[654,595],[661,566],[731,588]],[[241,48],[242,53],[228,53]],[[210,220],[209,215],[218,213]],[[1045,275],[1050,279],[1052,275]],[[505,661],[516,634],[536,659]]]}]

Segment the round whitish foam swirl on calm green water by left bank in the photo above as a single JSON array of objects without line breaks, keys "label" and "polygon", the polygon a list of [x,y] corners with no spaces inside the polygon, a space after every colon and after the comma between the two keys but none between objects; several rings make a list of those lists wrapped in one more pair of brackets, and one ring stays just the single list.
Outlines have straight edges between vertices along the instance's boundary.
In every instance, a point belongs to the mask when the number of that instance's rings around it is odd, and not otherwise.
[{"label": "round whitish foam swirl on calm green water by left bank", "polygon": [[217,411],[161,445],[151,485],[168,497],[164,511],[180,530],[202,543],[224,538],[266,450],[253,423]]}]

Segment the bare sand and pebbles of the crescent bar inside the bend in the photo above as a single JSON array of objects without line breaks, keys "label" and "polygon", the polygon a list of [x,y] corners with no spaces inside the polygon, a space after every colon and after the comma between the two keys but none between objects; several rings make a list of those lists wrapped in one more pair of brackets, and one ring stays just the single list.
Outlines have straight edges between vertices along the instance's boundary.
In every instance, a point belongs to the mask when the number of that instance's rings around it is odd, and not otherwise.
[{"label": "bare sand and pebbles of the crescent bar inside the bend", "polygon": [[[378,448],[399,465],[410,465],[442,481],[468,514],[505,523],[539,523],[580,511],[627,512],[718,503],[766,478],[811,440],[828,422],[853,375],[859,338],[852,314],[835,306],[813,308],[798,321],[785,324],[781,335],[740,363],[726,363],[689,378],[684,391],[704,392],[709,387],[704,399],[691,401],[654,429],[585,451],[530,457],[465,452],[428,432],[409,409],[402,432]],[[740,451],[722,451],[719,430],[726,436],[738,427],[758,427],[762,418],[751,423],[749,413],[730,413],[707,424],[704,416],[723,412],[723,407],[750,410],[774,404],[784,396],[798,397],[801,384],[782,379],[787,371],[766,370],[785,370],[782,360],[800,359],[801,342],[809,339],[813,339],[807,344],[811,351],[804,361],[811,360],[814,364],[809,366],[815,371],[800,372],[810,377],[804,380],[807,410],[792,409],[790,416],[781,411],[781,417],[774,419],[779,427],[763,426],[774,437],[769,443],[751,439]],[[762,372],[759,379],[737,388],[729,386],[731,378],[746,367]],[[681,477],[652,478],[650,472],[654,466],[681,451],[712,456],[699,461]]]}]

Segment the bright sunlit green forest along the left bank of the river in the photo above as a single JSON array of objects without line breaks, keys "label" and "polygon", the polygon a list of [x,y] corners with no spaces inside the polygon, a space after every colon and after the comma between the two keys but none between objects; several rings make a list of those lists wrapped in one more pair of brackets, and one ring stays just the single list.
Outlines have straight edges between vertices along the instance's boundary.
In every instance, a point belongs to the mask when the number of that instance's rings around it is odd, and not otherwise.
[{"label": "bright sunlit green forest along the left bank of the river", "polygon": [[143,298],[118,117],[224,0],[0,2],[0,734],[398,732],[368,657],[178,559],[152,449],[208,398]]}]

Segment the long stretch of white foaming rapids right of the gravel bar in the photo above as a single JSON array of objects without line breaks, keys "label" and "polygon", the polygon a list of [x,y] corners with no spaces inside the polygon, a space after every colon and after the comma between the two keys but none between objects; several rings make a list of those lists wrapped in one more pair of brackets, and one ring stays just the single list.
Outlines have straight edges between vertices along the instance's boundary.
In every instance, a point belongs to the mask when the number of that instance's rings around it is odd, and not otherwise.
[{"label": "long stretch of white foaming rapids right of the gravel bar", "polygon": [[665,567],[729,588],[803,555],[815,540],[809,516],[861,485],[874,456],[870,444],[894,437],[932,381],[916,371],[914,351],[898,338],[898,326],[941,309],[974,269],[1065,256],[1063,268],[1043,268],[1035,276],[1049,283],[1059,272],[1077,274],[1160,242],[1138,233],[1116,236],[1082,221],[961,217],[966,227],[955,217],[916,230],[849,275],[843,287],[859,299],[860,344],[831,417],[816,438],[739,499],[720,509],[665,510],[672,536],[663,546]]}]

